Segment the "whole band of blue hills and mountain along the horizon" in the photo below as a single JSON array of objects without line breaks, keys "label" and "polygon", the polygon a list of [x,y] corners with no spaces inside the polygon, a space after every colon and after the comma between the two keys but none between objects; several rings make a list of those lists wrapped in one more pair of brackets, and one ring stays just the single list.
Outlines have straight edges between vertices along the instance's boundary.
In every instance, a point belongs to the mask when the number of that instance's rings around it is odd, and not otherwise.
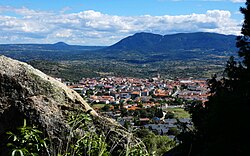
[{"label": "whole band of blue hills and mountain along the horizon", "polygon": [[0,54],[26,60],[79,60],[107,58],[129,63],[162,60],[187,60],[234,55],[236,36],[216,33],[180,33],[158,35],[136,33],[114,45],[79,46],[64,42],[55,44],[2,44]]}]

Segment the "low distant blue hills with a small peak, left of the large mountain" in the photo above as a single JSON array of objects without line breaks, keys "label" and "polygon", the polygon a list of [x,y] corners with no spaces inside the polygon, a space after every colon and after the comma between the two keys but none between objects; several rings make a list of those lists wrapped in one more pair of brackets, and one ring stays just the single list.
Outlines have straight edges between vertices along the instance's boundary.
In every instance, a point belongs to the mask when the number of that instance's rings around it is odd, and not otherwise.
[{"label": "low distant blue hills with a small peak, left of the large mountain", "polygon": [[78,55],[103,49],[104,46],[68,45],[64,42],[55,44],[0,44],[0,55],[22,61],[30,60],[74,60]]}]

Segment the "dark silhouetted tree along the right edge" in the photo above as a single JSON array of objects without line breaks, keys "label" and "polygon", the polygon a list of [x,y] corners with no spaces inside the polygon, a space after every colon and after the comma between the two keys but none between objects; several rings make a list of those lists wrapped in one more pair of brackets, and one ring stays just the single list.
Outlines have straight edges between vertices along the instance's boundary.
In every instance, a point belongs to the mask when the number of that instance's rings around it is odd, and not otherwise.
[{"label": "dark silhouetted tree along the right edge", "polygon": [[245,18],[236,42],[240,61],[230,57],[224,77],[208,81],[205,104],[188,105],[195,129],[182,134],[186,155],[250,155],[250,0],[240,11]]}]

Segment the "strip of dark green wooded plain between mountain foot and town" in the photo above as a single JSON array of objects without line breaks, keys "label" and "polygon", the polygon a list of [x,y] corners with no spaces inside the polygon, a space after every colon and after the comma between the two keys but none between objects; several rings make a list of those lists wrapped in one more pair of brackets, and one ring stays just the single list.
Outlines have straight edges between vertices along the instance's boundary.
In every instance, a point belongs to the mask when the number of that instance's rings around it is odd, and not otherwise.
[{"label": "strip of dark green wooded plain between mountain foot and town", "polygon": [[[53,77],[78,82],[83,77],[123,76],[148,78],[157,73],[164,78],[194,77],[209,78],[221,73],[226,59],[214,60],[163,60],[134,64],[122,60],[87,58],[81,61],[31,61],[35,68]],[[97,63],[98,62],[98,63]]]}]

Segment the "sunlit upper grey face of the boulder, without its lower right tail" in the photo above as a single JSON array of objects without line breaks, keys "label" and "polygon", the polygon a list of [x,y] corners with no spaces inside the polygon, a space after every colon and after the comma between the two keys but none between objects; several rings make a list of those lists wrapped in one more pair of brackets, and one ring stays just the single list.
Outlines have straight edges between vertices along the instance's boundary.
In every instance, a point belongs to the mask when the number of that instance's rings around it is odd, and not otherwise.
[{"label": "sunlit upper grey face of the boulder, without its lower right tail", "polygon": [[[14,109],[15,113],[39,123],[50,136],[59,138],[60,133],[67,130],[65,110],[75,107],[91,109],[79,94],[64,84],[26,63],[4,56],[0,57],[0,95],[2,115]],[[91,113],[98,116],[95,111]],[[15,121],[6,123],[11,122]],[[8,128],[4,124],[0,127]]]}]

